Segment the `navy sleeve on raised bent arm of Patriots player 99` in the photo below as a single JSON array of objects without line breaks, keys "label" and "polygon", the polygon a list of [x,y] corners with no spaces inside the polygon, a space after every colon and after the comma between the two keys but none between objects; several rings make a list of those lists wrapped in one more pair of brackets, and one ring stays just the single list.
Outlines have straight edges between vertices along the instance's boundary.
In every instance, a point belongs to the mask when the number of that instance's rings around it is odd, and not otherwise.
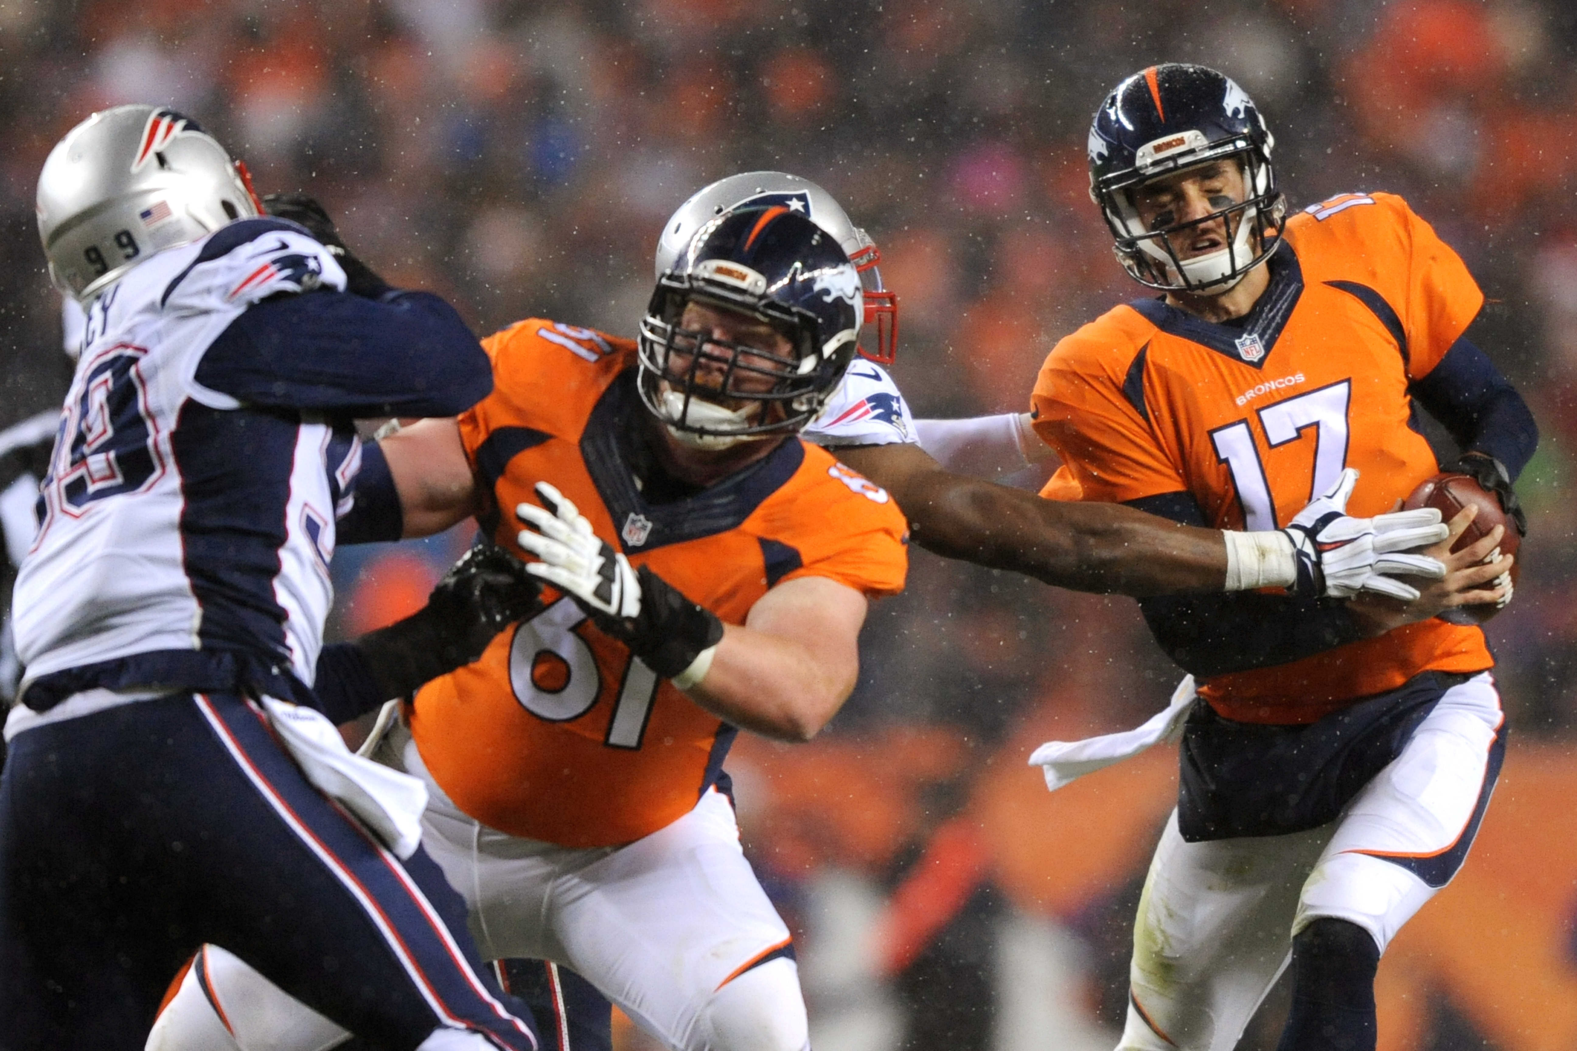
[{"label": "navy sleeve on raised bent arm of Patriots player 99", "polygon": [[492,391],[492,366],[435,295],[322,290],[241,314],[203,353],[197,383],[265,408],[456,416]]}]

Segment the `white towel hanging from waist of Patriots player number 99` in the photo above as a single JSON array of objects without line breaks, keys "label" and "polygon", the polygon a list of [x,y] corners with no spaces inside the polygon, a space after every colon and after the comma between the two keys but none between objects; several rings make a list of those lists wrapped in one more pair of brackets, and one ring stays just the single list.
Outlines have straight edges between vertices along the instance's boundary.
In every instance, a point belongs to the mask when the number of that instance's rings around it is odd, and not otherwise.
[{"label": "white towel hanging from waist of Patriots player number 99", "polygon": [[419,778],[352,753],[334,723],[315,709],[271,696],[263,698],[263,709],[319,791],[342,802],[401,860],[416,852],[427,808],[427,786]]}]

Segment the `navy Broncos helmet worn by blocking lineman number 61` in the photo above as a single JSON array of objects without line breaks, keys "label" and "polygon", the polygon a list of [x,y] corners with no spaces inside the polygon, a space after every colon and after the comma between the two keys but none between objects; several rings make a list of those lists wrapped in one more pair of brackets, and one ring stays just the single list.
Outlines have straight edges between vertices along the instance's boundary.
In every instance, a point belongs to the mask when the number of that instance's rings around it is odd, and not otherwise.
[{"label": "navy Broncos helmet worn by blocking lineman number 61", "polygon": [[[788,356],[681,329],[692,301],[771,325]],[[863,317],[859,273],[822,227],[782,205],[725,213],[658,277],[640,323],[640,397],[695,448],[793,433],[842,380]],[[703,361],[721,364],[722,378],[697,377]]]}]

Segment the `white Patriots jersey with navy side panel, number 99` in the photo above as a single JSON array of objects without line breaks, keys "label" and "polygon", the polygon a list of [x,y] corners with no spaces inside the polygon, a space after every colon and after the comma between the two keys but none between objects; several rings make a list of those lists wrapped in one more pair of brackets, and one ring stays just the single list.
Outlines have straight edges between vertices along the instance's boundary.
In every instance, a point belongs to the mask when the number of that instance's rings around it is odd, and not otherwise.
[{"label": "white Patriots jersey with navy side panel, number 99", "polygon": [[93,303],[16,585],[28,682],[259,641],[312,682],[333,600],[333,490],[360,449],[304,413],[235,411],[196,373],[254,304],[344,285],[322,244],[249,219],[159,252]]}]

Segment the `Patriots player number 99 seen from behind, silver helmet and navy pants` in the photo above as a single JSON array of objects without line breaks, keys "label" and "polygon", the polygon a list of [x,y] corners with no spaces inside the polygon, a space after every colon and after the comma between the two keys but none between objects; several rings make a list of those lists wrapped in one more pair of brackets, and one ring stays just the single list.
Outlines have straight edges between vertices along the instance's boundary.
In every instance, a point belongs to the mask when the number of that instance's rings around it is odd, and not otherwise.
[{"label": "Patriots player number 99 seen from behind, silver helmet and navy pants", "polygon": [[87,331],[13,610],[0,1048],[140,1048],[203,941],[388,1046],[536,1048],[415,846],[421,793],[290,703],[317,703],[352,419],[470,407],[476,339],[259,217],[167,109],[74,128],[38,219]]}]

